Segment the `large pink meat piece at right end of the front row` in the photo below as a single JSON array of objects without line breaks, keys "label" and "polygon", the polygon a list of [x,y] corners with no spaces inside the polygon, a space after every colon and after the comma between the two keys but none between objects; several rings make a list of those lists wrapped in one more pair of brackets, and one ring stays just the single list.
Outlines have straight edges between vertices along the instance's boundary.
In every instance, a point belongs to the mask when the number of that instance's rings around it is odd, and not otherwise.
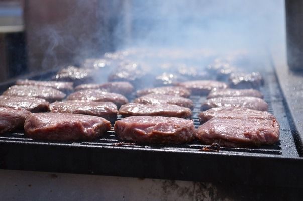
[{"label": "large pink meat piece at right end of the front row", "polygon": [[275,144],[279,140],[275,119],[224,119],[214,117],[201,125],[197,138],[205,143],[227,147]]}]

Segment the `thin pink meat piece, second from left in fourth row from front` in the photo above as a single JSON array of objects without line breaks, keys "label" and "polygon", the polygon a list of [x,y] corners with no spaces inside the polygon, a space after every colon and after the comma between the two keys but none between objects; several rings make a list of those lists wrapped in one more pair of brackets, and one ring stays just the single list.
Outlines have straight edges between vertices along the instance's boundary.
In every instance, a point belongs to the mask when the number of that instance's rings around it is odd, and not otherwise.
[{"label": "thin pink meat piece, second from left in fourth row from front", "polygon": [[130,95],[134,91],[134,87],[129,82],[108,82],[104,84],[82,84],[75,88],[76,91],[86,89],[101,89],[110,93],[119,93],[122,95]]}]

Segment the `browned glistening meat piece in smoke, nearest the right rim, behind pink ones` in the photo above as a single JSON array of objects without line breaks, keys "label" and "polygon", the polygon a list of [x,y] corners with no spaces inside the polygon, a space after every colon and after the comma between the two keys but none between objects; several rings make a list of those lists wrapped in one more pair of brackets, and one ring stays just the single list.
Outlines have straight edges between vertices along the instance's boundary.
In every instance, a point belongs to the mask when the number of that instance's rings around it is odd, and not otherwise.
[{"label": "browned glistening meat piece in smoke, nearest the right rim, behind pink ones", "polygon": [[232,73],[229,77],[229,86],[231,88],[256,88],[264,84],[264,80],[260,73]]}]

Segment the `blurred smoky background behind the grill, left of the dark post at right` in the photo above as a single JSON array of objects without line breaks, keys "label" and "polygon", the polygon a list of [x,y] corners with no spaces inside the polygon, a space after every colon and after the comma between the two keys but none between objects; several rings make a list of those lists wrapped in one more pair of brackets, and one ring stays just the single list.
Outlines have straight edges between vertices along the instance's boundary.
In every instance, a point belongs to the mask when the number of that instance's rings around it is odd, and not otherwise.
[{"label": "blurred smoky background behind the grill, left of the dark post at right", "polygon": [[284,10],[283,0],[0,0],[0,79],[138,47],[284,56]]}]

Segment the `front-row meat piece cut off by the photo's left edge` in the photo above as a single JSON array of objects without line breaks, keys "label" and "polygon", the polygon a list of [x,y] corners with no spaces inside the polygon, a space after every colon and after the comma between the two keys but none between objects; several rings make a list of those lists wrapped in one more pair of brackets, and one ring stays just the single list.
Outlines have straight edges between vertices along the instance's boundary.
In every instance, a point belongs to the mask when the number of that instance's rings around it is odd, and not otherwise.
[{"label": "front-row meat piece cut off by the photo's left edge", "polygon": [[25,118],[31,112],[24,109],[0,107],[0,134],[23,129]]}]

